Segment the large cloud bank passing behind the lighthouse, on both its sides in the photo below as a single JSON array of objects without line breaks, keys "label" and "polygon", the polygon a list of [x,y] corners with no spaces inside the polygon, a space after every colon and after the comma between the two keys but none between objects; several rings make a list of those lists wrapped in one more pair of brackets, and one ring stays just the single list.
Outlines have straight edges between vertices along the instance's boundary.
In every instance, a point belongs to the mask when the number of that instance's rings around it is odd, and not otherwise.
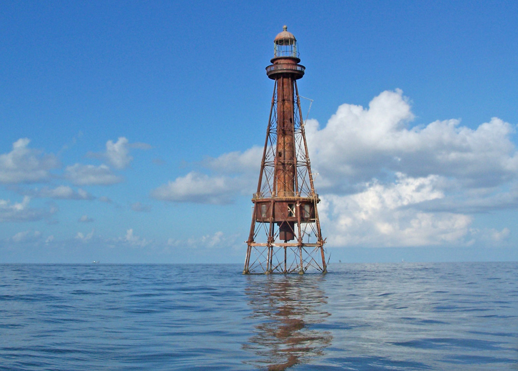
[{"label": "large cloud bank passing behind the lighthouse, on both its sides", "polygon": [[[414,120],[401,90],[382,92],[368,107],[343,104],[323,127],[308,120],[329,246],[470,245],[507,238],[507,228],[481,231],[472,221],[474,213],[518,205],[515,126],[497,117],[475,129],[453,119],[411,126]],[[261,154],[254,146],[206,158],[209,174],[191,172],[151,195],[231,202],[253,192]]]}]

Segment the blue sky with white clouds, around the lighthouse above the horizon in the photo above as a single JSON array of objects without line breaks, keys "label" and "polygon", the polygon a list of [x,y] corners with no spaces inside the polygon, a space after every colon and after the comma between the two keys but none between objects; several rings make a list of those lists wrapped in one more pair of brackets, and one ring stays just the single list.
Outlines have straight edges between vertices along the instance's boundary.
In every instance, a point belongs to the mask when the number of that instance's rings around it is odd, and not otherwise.
[{"label": "blue sky with white clouds, around the lighthouse above the horizon", "polygon": [[284,24],[331,262],[518,259],[515,2],[1,10],[0,262],[242,262]]}]

